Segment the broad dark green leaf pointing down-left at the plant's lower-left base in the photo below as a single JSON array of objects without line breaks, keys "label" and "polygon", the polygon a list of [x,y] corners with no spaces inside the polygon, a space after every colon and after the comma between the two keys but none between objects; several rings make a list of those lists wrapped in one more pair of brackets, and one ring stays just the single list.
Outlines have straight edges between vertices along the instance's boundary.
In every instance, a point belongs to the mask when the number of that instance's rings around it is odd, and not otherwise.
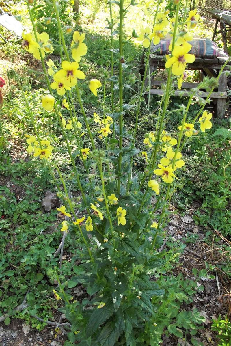
[{"label": "broad dark green leaf pointing down-left at the plant's lower-left base", "polygon": [[88,336],[95,333],[96,329],[99,328],[107,319],[113,314],[114,307],[112,301],[106,303],[103,308],[95,308],[91,313],[91,317],[87,324]]}]

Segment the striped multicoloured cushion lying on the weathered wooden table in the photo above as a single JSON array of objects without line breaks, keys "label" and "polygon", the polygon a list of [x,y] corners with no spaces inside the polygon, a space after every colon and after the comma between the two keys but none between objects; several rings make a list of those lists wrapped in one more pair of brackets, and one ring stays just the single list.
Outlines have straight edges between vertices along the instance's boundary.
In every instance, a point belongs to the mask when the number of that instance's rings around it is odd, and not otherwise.
[{"label": "striped multicoloured cushion lying on the weathered wooden table", "polygon": [[[215,42],[207,39],[195,39],[189,42],[192,45],[192,48],[188,53],[194,54],[197,57],[211,57],[219,56],[218,47]],[[166,55],[170,54],[168,47],[170,45],[169,39],[160,40],[160,43],[156,46],[153,46],[152,53]]]}]

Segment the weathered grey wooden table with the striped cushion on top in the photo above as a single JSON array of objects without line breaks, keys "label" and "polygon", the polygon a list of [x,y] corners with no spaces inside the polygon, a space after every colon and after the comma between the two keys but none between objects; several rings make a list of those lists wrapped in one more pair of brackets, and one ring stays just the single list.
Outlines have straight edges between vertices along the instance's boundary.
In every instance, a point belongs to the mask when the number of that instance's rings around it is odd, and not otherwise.
[{"label": "weathered grey wooden table with the striped cushion on top", "polygon": [[[192,64],[187,64],[186,70],[198,70],[200,71],[201,80],[203,80],[204,76],[212,76],[217,77],[222,65],[225,61],[228,60],[228,55],[223,51],[220,51],[220,56],[214,58],[199,58],[196,57],[196,60]],[[158,54],[150,54],[149,57],[149,68],[150,74],[152,74],[157,69],[165,69],[165,61],[163,59],[163,55]],[[229,70],[229,65],[227,64],[224,70]],[[145,84],[148,85],[149,79],[146,78]],[[148,91],[151,95],[162,95],[164,93],[161,87],[162,84],[165,84],[166,81],[163,80],[154,80],[154,74],[151,78],[151,89]],[[192,89],[195,88],[199,83],[188,83],[185,82],[182,84],[182,89]],[[153,88],[153,86],[155,88]],[[177,84],[176,84],[177,86]],[[216,116],[219,118],[224,118],[225,116],[225,106],[227,99],[227,75],[222,73],[219,78],[219,86],[217,89],[214,89],[210,98],[213,99],[215,108],[216,108]],[[206,98],[209,92],[205,90],[199,90],[195,96]],[[175,95],[183,95],[189,96],[190,91],[186,90],[175,90]]]}]

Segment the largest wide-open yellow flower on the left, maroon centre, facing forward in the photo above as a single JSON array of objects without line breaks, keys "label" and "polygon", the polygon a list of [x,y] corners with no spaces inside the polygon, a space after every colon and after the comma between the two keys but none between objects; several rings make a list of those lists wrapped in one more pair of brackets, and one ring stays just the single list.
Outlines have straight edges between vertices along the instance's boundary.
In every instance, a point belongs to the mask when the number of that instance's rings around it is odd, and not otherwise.
[{"label": "largest wide-open yellow flower on the left, maroon centre, facing forward", "polygon": [[70,63],[67,60],[64,60],[61,64],[62,70],[56,72],[54,77],[64,81],[65,85],[70,86],[71,88],[77,84],[78,79],[84,79],[85,74],[78,70],[78,63],[76,61]]}]

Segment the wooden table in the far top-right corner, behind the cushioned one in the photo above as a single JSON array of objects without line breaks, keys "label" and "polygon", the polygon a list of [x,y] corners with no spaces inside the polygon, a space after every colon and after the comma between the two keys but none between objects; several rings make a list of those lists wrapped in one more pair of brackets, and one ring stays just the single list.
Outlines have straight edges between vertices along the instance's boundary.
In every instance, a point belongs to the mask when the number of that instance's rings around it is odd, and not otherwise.
[{"label": "wooden table in the far top-right corner, behind the cushioned one", "polygon": [[218,22],[220,22],[221,30],[218,31],[218,33],[221,33],[224,48],[227,52],[227,32],[231,31],[231,11],[214,9],[208,10],[208,12],[212,15],[213,19],[216,19],[212,41],[214,41],[217,32],[216,29],[218,27]]}]

